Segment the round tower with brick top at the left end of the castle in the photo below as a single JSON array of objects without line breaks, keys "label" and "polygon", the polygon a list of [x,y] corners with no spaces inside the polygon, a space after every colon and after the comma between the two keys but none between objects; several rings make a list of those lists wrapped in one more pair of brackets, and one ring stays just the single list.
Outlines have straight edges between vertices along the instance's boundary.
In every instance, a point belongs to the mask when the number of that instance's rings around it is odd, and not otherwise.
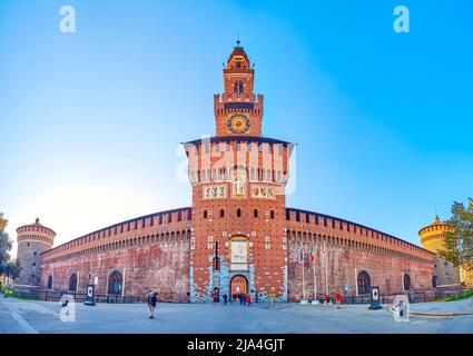
[{"label": "round tower with brick top at the left end of the castle", "polygon": [[18,253],[21,273],[18,285],[39,286],[41,254],[50,249],[55,243],[56,233],[42,226],[37,218],[35,224],[17,229]]}]

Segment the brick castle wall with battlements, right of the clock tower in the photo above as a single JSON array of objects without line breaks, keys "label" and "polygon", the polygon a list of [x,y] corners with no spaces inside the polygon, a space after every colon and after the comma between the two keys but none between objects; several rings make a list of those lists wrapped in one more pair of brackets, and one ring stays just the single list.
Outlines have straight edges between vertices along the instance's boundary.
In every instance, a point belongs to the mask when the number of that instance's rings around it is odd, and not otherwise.
[{"label": "brick castle wall with battlements, right of the clock tower", "polygon": [[[351,221],[297,209],[287,212],[289,300],[303,298],[303,265],[306,299],[314,296],[314,268],[317,295],[325,295],[327,285],[329,294],[359,295],[357,276],[363,270],[381,294],[403,293],[405,274],[415,290],[433,288],[434,254]],[[311,260],[313,246],[315,266]],[[345,285],[351,290],[347,294]]]}]

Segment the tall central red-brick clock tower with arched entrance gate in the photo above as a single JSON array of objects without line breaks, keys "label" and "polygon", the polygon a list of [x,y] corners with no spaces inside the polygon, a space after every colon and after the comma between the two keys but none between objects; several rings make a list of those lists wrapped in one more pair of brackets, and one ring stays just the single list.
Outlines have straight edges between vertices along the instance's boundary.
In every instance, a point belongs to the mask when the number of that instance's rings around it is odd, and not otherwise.
[{"label": "tall central red-brick clock tower with arched entrance gate", "polygon": [[263,96],[243,47],[214,96],[216,136],[184,144],[193,186],[190,301],[234,293],[287,299],[285,237],[293,144],[262,137]]}]

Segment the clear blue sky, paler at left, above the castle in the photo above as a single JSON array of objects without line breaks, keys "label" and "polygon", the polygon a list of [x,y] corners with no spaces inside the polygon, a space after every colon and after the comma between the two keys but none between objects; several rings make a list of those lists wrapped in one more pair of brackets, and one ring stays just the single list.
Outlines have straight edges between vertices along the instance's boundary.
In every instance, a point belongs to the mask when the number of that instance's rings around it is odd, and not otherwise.
[{"label": "clear blue sky, paler at left, above the castle", "polygon": [[[59,31],[71,4],[77,32]],[[407,6],[411,32],[395,33]],[[287,206],[418,244],[473,190],[471,1],[0,2],[0,210],[65,243],[190,206],[179,142],[214,135],[236,34],[264,135],[297,142]]]}]

